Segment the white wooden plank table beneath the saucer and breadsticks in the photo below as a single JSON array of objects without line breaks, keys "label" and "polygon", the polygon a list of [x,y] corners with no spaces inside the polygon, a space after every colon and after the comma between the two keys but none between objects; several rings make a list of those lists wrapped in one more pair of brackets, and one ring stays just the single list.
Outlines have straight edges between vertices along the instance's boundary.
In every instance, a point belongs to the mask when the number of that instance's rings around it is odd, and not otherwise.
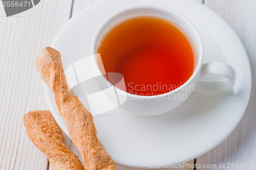
[{"label": "white wooden plank table beneath the saucer and breadsticks", "polygon": [[[28,111],[48,109],[34,66],[35,57],[41,48],[51,44],[70,17],[95,1],[99,0],[41,0],[34,8],[11,17],[5,16],[0,4],[1,170],[51,169],[47,157],[29,140],[22,122]],[[197,1],[223,17],[241,38],[251,63],[252,92],[241,122],[228,138],[215,149],[188,162],[217,164],[217,168],[182,169],[220,169],[219,163],[254,163],[254,168],[229,169],[256,169],[256,0]],[[66,143],[78,154],[67,137]],[[121,165],[118,168],[140,169]]]}]

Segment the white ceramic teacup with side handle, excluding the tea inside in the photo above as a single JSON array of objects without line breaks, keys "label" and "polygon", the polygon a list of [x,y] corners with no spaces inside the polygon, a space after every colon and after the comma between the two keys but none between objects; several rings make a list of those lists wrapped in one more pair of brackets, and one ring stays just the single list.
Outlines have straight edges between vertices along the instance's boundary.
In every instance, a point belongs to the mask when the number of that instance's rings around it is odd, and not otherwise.
[{"label": "white ceramic teacup with side handle, excluding the tea inside", "polygon": [[[119,106],[120,109],[137,115],[158,115],[178,107],[193,91],[222,91],[232,87],[236,80],[236,72],[234,69],[230,65],[222,62],[203,64],[203,42],[199,32],[193,23],[182,14],[165,7],[136,6],[120,10],[111,15],[101,23],[96,31],[92,42],[91,54],[96,54],[100,40],[108,31],[125,19],[138,16],[154,16],[172,22],[189,40],[197,65],[195,66],[193,75],[184,84],[164,94],[142,96],[116,88],[116,93],[119,98],[126,99],[125,102]],[[95,71],[100,72],[96,58],[94,58],[92,62],[96,69]],[[218,75],[225,79],[222,81],[207,81],[201,79],[208,75]]]}]

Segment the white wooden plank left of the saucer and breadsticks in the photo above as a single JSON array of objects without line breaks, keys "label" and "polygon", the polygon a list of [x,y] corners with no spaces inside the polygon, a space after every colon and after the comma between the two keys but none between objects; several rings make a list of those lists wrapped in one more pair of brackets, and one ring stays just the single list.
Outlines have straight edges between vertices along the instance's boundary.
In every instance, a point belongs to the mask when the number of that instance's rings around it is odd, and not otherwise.
[{"label": "white wooden plank left of the saucer and breadsticks", "polygon": [[71,3],[44,0],[11,17],[0,5],[0,169],[48,169],[22,120],[30,110],[48,109],[35,57],[69,19]]}]

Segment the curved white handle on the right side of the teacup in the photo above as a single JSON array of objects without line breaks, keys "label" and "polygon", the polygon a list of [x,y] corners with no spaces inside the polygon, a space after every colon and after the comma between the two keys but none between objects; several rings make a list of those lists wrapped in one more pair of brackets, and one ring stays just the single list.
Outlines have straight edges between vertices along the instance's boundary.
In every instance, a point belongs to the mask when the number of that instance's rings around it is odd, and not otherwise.
[{"label": "curved white handle on the right side of the teacup", "polygon": [[[204,80],[208,75],[218,75],[225,79],[213,81]],[[236,71],[222,62],[209,62],[202,65],[201,74],[195,91],[223,91],[233,86],[236,81]]]}]

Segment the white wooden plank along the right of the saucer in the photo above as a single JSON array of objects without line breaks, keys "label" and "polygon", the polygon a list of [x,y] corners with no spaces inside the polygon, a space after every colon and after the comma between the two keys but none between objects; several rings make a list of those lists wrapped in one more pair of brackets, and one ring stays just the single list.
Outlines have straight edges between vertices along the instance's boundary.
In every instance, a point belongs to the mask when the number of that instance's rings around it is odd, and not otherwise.
[{"label": "white wooden plank along the right of the saucer", "polygon": [[[251,63],[252,92],[247,110],[237,128],[234,129],[228,138],[218,145],[218,147],[197,158],[197,163],[217,165],[225,163],[225,168],[218,167],[217,169],[227,169],[228,163],[238,163],[238,168],[234,167],[229,169],[255,169],[256,1],[205,0],[205,5],[224,18],[242,40]],[[254,165],[254,167],[252,167],[252,165]]]}]

